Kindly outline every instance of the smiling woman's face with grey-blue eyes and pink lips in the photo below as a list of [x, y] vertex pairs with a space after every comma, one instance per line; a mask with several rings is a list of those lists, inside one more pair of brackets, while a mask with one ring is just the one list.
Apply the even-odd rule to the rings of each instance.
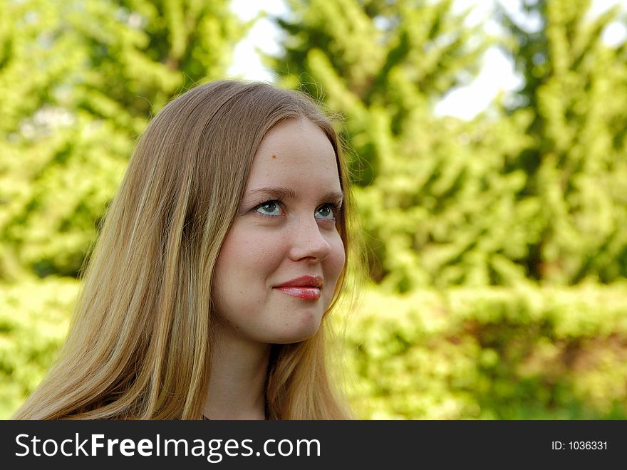
[[344, 265], [336, 227], [342, 190], [336, 155], [306, 119], [273, 127], [214, 273], [219, 328], [260, 343], [295, 343], [320, 326]]

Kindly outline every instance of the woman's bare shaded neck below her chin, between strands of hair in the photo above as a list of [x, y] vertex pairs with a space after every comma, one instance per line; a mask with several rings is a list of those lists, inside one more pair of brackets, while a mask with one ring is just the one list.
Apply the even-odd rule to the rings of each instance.
[[211, 377], [204, 416], [265, 419], [270, 345], [237, 338], [222, 328], [214, 330], [211, 342]]

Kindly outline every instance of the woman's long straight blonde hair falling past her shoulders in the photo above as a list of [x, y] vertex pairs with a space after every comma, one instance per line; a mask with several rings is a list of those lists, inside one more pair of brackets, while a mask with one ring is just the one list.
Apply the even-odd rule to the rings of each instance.
[[[14, 419], [202, 417], [217, 256], [261, 140], [290, 117], [314, 122], [336, 150], [347, 198], [338, 231], [348, 263], [346, 164], [316, 104], [266, 83], [192, 88], [140, 137], [86, 269], [68, 338]], [[272, 346], [270, 419], [350, 417], [327, 367], [328, 323], [309, 340]]]

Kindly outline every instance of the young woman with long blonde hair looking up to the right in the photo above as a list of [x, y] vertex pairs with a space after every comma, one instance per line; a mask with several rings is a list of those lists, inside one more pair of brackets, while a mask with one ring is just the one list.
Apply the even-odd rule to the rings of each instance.
[[306, 96], [218, 81], [140, 138], [56, 364], [15, 419], [347, 419], [341, 143]]

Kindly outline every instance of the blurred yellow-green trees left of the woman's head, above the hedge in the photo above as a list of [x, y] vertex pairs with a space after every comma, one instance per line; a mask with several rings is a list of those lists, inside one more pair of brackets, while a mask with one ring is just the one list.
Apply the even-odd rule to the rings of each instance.
[[147, 120], [221, 78], [247, 25], [228, 0], [0, 8], [0, 279], [77, 276]]

